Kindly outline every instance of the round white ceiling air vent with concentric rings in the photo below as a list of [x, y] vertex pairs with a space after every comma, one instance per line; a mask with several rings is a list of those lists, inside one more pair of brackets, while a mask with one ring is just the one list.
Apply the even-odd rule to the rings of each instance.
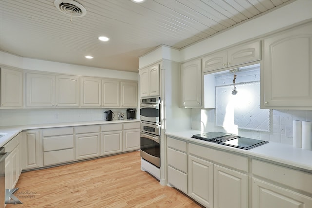
[[82, 17], [87, 13], [86, 8], [74, 0], [55, 0], [54, 5], [59, 11], [71, 17]]

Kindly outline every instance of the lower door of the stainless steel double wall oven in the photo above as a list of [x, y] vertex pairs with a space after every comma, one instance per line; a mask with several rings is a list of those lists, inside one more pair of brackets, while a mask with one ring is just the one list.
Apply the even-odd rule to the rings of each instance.
[[141, 132], [141, 157], [160, 168], [160, 136]]

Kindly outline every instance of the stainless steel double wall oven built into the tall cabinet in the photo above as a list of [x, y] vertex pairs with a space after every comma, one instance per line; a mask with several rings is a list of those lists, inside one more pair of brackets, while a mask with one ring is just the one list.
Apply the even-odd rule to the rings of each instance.
[[161, 99], [141, 99], [141, 157], [160, 168]]

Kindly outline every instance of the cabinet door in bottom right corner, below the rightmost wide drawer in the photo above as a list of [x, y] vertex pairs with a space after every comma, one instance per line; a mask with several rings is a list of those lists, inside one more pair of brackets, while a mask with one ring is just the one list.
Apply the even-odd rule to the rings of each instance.
[[258, 179], [252, 179], [252, 208], [311, 208], [312, 198]]

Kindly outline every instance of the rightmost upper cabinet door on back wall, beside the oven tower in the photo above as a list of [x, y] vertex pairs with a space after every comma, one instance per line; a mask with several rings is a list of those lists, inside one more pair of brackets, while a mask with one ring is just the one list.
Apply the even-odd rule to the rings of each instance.
[[137, 82], [121, 82], [121, 107], [137, 108]]

